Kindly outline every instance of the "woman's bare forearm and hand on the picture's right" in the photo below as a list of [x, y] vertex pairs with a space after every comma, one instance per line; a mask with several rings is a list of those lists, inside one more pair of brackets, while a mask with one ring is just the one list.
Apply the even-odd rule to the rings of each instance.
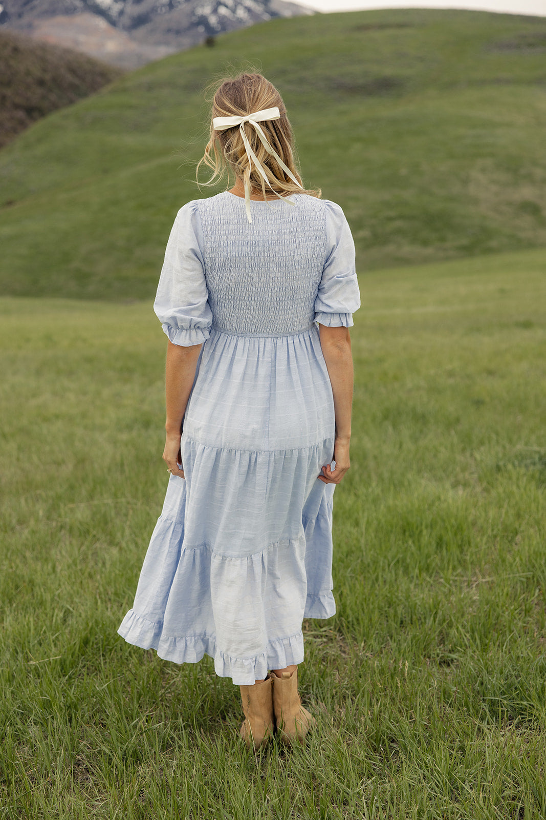
[[332, 385], [334, 413], [336, 417], [336, 439], [334, 441], [335, 470], [331, 464], [323, 466], [318, 476], [324, 484], [339, 484], [350, 467], [350, 418], [353, 406], [353, 356], [350, 349], [348, 327], [327, 327], [318, 325], [320, 346]]

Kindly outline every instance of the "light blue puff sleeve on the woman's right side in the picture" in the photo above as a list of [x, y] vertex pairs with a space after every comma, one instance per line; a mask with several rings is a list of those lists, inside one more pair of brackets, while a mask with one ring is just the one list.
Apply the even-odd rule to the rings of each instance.
[[345, 214], [325, 201], [327, 258], [314, 303], [314, 321], [327, 327], [351, 327], [360, 307], [359, 282], [354, 267], [354, 242]]

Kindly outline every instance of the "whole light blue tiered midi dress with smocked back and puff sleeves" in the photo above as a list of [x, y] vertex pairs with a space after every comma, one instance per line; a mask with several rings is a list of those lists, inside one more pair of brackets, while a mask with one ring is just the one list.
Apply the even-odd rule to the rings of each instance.
[[214, 658], [253, 684], [304, 659], [304, 617], [336, 612], [332, 387], [318, 336], [359, 307], [350, 229], [335, 203], [295, 194], [187, 203], [154, 309], [174, 344], [203, 344], [133, 608], [119, 632], [160, 658]]

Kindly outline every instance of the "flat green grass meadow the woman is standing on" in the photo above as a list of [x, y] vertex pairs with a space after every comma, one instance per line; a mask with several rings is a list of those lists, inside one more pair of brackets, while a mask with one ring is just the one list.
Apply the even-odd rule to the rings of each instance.
[[545, 266], [361, 277], [318, 731], [257, 755], [210, 659], [116, 635], [166, 484], [151, 305], [2, 298], [0, 818], [544, 817]]

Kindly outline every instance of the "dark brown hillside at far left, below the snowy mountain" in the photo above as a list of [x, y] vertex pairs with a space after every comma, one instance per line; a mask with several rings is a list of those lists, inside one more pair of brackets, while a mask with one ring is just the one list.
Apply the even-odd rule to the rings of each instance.
[[0, 147], [31, 123], [115, 80], [91, 57], [0, 30]]

